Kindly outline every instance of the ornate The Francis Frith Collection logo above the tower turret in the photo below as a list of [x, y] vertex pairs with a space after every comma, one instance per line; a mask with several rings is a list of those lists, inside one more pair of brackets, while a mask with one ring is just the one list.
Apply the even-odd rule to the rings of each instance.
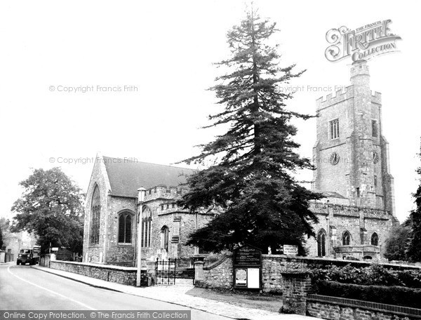
[[390, 23], [392, 20], [383, 20], [354, 30], [345, 26], [330, 29], [326, 32], [326, 40], [330, 44], [325, 51], [326, 59], [332, 62], [348, 57], [352, 61], [368, 60], [376, 55], [398, 51], [396, 41], [401, 37], [392, 34]]

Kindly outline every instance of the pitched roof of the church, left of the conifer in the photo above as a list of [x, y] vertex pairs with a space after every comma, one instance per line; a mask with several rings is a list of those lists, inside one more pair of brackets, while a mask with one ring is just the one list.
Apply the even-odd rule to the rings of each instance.
[[138, 189], [155, 187], [156, 185], [178, 186], [186, 182], [186, 175], [194, 170], [162, 164], [131, 161], [130, 159], [103, 156], [111, 194], [113, 196], [138, 196]]

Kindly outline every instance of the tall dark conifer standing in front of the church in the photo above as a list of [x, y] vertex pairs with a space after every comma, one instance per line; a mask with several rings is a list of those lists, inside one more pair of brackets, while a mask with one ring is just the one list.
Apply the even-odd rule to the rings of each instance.
[[282, 244], [295, 244], [304, 254], [305, 235], [314, 235], [311, 222], [317, 218], [308, 206], [319, 195], [293, 178], [297, 169], [312, 165], [295, 152], [297, 129], [290, 124], [294, 117], [310, 116], [286, 109], [291, 95], [279, 84], [302, 72], [293, 74], [295, 65], [279, 67], [278, 46], [267, 44], [277, 31], [274, 23], [251, 11], [227, 34], [232, 55], [217, 64], [227, 74], [210, 88], [225, 109], [209, 116], [213, 123], [206, 128], [222, 125], [228, 130], [185, 160], [205, 164], [211, 159], [213, 165], [187, 178], [189, 192], [180, 201], [192, 211], [215, 206], [222, 213], [192, 233], [187, 244], [215, 252], [242, 244], [263, 252], [270, 246], [273, 252]]

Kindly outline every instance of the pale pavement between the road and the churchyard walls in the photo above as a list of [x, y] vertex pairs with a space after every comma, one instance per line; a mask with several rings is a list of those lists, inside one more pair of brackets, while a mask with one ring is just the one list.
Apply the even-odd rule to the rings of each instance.
[[143, 298], [159, 300], [163, 302], [170, 302], [175, 305], [198, 309], [201, 311], [209, 312], [211, 314], [218, 314], [220, 316], [227, 316], [232, 319], [250, 319], [250, 320], [316, 320], [312, 316], [301, 316], [298, 314], [279, 314], [276, 312], [269, 312], [262, 309], [251, 309], [246, 307], [239, 307], [226, 302], [219, 302], [215, 300], [194, 297], [187, 295], [187, 291], [194, 288], [192, 281], [185, 281], [177, 279], [176, 284], [173, 286], [149, 286], [149, 287], [135, 287], [125, 286], [123, 284], [115, 284], [100, 279], [83, 276], [81, 274], [74, 274], [48, 267], [40, 267], [38, 265], [32, 266], [34, 269], [39, 269], [43, 272], [49, 272], [58, 276], [79, 281], [83, 284], [88, 284], [97, 288], [104, 288], [130, 295], [138, 295]]

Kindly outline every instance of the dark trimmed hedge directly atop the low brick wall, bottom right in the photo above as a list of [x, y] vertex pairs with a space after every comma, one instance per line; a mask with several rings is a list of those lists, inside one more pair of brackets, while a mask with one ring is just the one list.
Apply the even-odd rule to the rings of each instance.
[[363, 286], [319, 280], [314, 284], [314, 290], [319, 295], [421, 308], [421, 289], [401, 286]]

